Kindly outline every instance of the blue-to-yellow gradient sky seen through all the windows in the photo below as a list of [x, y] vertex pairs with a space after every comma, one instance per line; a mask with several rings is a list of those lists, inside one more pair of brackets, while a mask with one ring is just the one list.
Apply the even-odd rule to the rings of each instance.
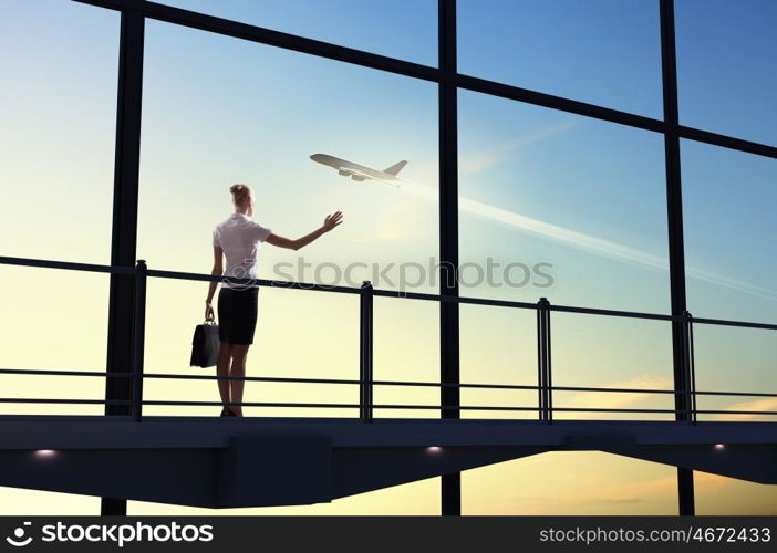
[[[169, 3], [436, 63], [431, 0]], [[777, 46], [775, 4], [752, 0], [733, 10], [731, 2], [677, 0], [676, 6], [681, 123], [774, 145], [777, 114], [769, 106], [777, 72], [769, 52]], [[583, 9], [577, 1], [459, 0], [458, 7], [462, 73], [661, 116], [657, 1], [599, 0]], [[112, 11], [66, 0], [0, 0], [3, 255], [110, 261], [117, 48], [118, 15]], [[466, 91], [459, 92], [458, 104], [464, 295], [529, 302], [547, 296], [557, 304], [669, 312], [661, 135]], [[376, 168], [402, 159], [408, 165], [395, 189], [340, 177], [311, 161], [314, 153]], [[418, 278], [418, 268], [437, 254], [437, 155], [432, 83], [167, 23], [146, 24], [137, 253], [151, 268], [208, 272], [210, 231], [231, 211], [228, 188], [246, 182], [257, 196], [255, 219], [283, 236], [302, 236], [338, 209], [345, 213], [341, 227], [305, 250], [265, 247], [260, 276], [328, 283], [351, 267], [359, 283], [375, 279], [371, 269], [353, 263], [394, 263], [376, 288], [398, 289], [404, 270], [407, 289], [436, 292], [437, 283]], [[681, 143], [681, 155], [688, 309], [696, 316], [775, 322], [775, 160], [690, 140]], [[300, 259], [309, 263], [301, 272]], [[480, 278], [478, 268], [489, 262], [498, 263], [493, 279]], [[8, 294], [3, 302], [3, 366], [104, 371], [105, 275], [2, 271], [7, 290], [34, 291]], [[550, 275], [550, 285], [540, 272]], [[205, 294], [201, 283], [149, 282], [147, 372], [194, 371], [187, 366], [188, 347]], [[249, 373], [355, 378], [356, 306], [352, 296], [263, 289]], [[533, 313], [464, 305], [460, 324], [462, 382], [536, 384]], [[555, 313], [552, 324], [555, 384], [671, 387], [666, 323]], [[45, 347], [40, 347], [42, 335]], [[774, 392], [776, 336], [697, 326], [697, 388]], [[434, 380], [438, 356], [436, 305], [376, 300], [376, 378]], [[100, 398], [103, 392], [97, 377], [4, 376], [3, 383], [4, 395], [21, 397]], [[215, 388], [151, 380], [145, 393], [148, 399], [215, 400]], [[323, 396], [353, 403], [358, 390], [280, 384], [246, 389], [251, 401]], [[536, 401], [533, 393], [521, 392], [464, 390], [462, 399], [469, 405]], [[437, 398], [431, 389], [386, 387], [375, 390], [375, 400], [428, 405]], [[558, 393], [555, 405], [671, 407], [665, 398], [646, 394], [594, 393]], [[698, 407], [774, 410], [777, 401], [700, 398]], [[2, 409], [100, 413], [92, 406]], [[213, 410], [183, 409], [191, 415]], [[146, 413], [183, 414], [178, 407]], [[292, 409], [246, 413], [300, 415]], [[323, 413], [304, 413], [317, 414]], [[353, 416], [348, 409], [327, 414]], [[465, 472], [463, 512], [672, 514], [673, 474], [672, 467], [604, 453], [546, 453]], [[703, 473], [696, 473], [696, 483], [700, 514], [777, 512], [774, 487]], [[96, 498], [8, 488], [0, 489], [0, 504], [12, 505], [0, 509], [13, 508], [13, 513], [32, 510], [39, 498], [52, 513], [93, 513], [99, 504]], [[438, 502], [438, 480], [429, 479], [332, 504], [229, 513], [434, 514]], [[128, 512], [199, 510], [133, 501]]]

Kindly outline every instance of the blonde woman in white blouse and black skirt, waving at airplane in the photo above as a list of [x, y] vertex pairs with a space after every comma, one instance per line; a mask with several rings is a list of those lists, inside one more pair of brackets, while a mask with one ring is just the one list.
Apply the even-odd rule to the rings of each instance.
[[[235, 212], [214, 229], [214, 268], [211, 274], [225, 274], [222, 258], [227, 259], [226, 276], [218, 293], [219, 355], [216, 374], [219, 376], [245, 376], [248, 348], [253, 343], [257, 326], [258, 284], [230, 282], [229, 278], [256, 279], [257, 258], [263, 242], [278, 248], [299, 250], [329, 232], [342, 222], [340, 211], [327, 216], [321, 227], [297, 240], [272, 232], [251, 219], [253, 191], [246, 185], [232, 185]], [[214, 317], [213, 299], [218, 282], [210, 282], [205, 300], [205, 317]], [[224, 403], [222, 417], [241, 417], [242, 407], [228, 406], [242, 401], [242, 379], [219, 379], [218, 392]]]

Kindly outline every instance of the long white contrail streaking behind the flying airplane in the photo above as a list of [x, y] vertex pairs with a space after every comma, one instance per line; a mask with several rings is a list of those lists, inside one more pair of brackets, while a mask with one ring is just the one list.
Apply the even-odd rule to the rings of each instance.
[[[437, 201], [438, 199], [437, 190], [407, 180], [403, 181], [401, 190], [431, 201]], [[586, 234], [583, 232], [560, 227], [558, 225], [540, 221], [539, 219], [522, 216], [514, 211], [508, 211], [506, 209], [472, 200], [469, 198], [459, 197], [458, 207], [460, 211], [466, 211], [470, 215], [481, 217], [490, 221], [500, 222], [508, 227], [520, 229], [557, 242], [567, 243], [600, 255], [669, 271], [669, 262], [666, 259], [613, 242], [611, 240], [597, 238], [591, 234]], [[738, 292], [745, 292], [777, 301], [777, 292], [764, 286], [722, 276], [711, 271], [705, 271], [693, 267], [688, 267], [686, 269], [686, 274], [691, 278], [709, 282], [712, 284], [718, 284]]]

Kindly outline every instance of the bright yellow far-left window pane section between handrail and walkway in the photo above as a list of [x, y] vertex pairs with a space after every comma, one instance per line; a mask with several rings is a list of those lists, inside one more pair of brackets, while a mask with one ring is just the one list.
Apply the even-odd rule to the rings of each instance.
[[[12, 286], [2, 300], [0, 316], [2, 368], [105, 373], [106, 274], [0, 265], [0, 279]], [[105, 378], [2, 375], [0, 397], [102, 400]], [[0, 414], [102, 415], [104, 411], [100, 404], [0, 403]]]

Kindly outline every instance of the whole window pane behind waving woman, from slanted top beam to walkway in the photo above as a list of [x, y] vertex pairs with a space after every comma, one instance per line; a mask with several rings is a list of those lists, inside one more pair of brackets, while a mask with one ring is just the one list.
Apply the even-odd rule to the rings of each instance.
[[[302, 237], [327, 213], [344, 213], [340, 227], [299, 251], [265, 243], [260, 278], [437, 290], [426, 278], [438, 248], [435, 85], [154, 21], [146, 30], [144, 79], [138, 257], [148, 267], [209, 272], [213, 228], [235, 211], [229, 187], [245, 182], [255, 191], [253, 220], [279, 236]], [[314, 163], [314, 154], [379, 170], [408, 163], [397, 187], [339, 175]], [[419, 189], [423, 194], [411, 194]], [[426, 272], [419, 275], [418, 268]], [[190, 371], [186, 348], [207, 288], [152, 279], [147, 309], [156, 331], [149, 327], [148, 371]], [[376, 327], [401, 327], [408, 311], [379, 304]], [[353, 295], [262, 289], [247, 374], [358, 378], [358, 317]], [[434, 341], [427, 346], [436, 347], [437, 334], [428, 337]], [[405, 353], [417, 349], [428, 357], [416, 345]], [[380, 371], [386, 366], [384, 351], [375, 354]], [[424, 369], [437, 374], [432, 365]], [[148, 393], [189, 394], [159, 382]], [[190, 397], [218, 398], [213, 383], [189, 386]], [[354, 404], [358, 397], [354, 386], [267, 383], [247, 384], [245, 395], [247, 401], [282, 403]], [[356, 416], [353, 409], [246, 413]]]

